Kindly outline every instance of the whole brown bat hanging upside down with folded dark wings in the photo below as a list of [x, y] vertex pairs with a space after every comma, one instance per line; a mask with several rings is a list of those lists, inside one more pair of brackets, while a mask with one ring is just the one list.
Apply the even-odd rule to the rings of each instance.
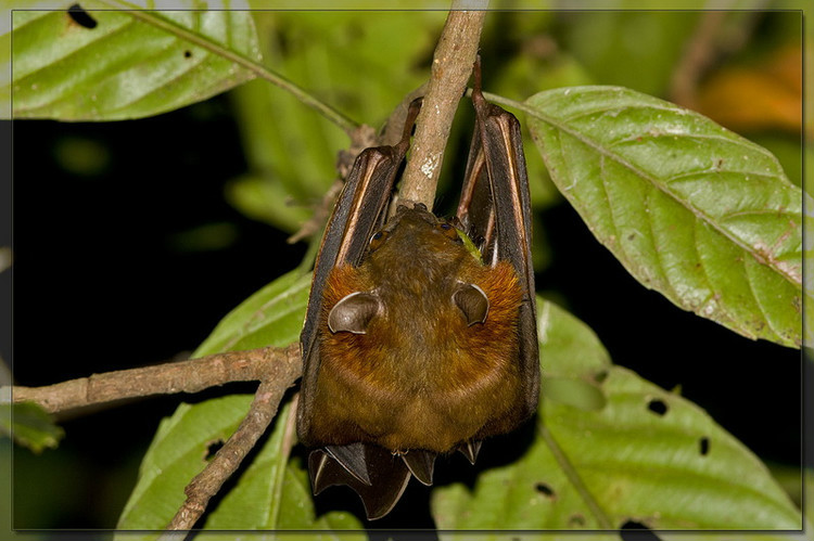
[[479, 65], [472, 103], [455, 220], [421, 204], [386, 219], [419, 100], [398, 144], [357, 157], [317, 258], [297, 433], [313, 449], [314, 493], [347, 485], [368, 519], [386, 515], [411, 476], [431, 485], [436, 455], [458, 450], [474, 463], [483, 439], [513, 430], [537, 405], [520, 125], [484, 100]]

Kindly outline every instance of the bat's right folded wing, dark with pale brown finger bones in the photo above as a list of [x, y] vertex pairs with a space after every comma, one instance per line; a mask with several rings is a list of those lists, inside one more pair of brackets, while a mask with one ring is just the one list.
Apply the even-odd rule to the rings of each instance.
[[[475, 134], [472, 138], [458, 220], [482, 247], [486, 265], [509, 261], [520, 279], [520, 371], [525, 383], [519, 404], [531, 415], [539, 397], [534, 269], [529, 176], [523, 156], [520, 123], [511, 113], [486, 102], [481, 93], [480, 66], [475, 67]], [[469, 456], [467, 450], [461, 451]]]

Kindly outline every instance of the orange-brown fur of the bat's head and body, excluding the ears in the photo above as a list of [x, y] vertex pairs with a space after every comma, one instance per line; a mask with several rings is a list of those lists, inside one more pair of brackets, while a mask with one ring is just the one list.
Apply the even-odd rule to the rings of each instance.
[[[311, 425], [317, 445], [447, 452], [521, 421], [518, 276], [507, 262], [483, 266], [433, 220], [406, 215], [358, 268], [336, 267], [328, 276]], [[453, 301], [459, 282], [486, 293], [484, 323], [467, 325]], [[331, 333], [328, 313], [354, 292], [374, 292], [383, 311], [366, 334]]]

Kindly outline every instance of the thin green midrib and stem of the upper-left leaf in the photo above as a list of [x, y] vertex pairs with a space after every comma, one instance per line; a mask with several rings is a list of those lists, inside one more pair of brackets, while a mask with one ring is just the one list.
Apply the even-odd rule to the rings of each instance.
[[[119, 3], [125, 3], [125, 2], [112, 2], [110, 0], [98, 0], [98, 1], [107, 5], [114, 7], [114, 8]], [[332, 106], [320, 101], [316, 96], [309, 94], [307, 91], [298, 87], [293, 81], [287, 79], [285, 77], [283, 77], [282, 75], [278, 73], [272, 72], [271, 69], [267, 68], [263, 64], [259, 64], [258, 62], [255, 62], [252, 59], [249, 59], [242, 55], [239, 52], [232, 51], [221, 46], [220, 43], [217, 43], [216, 41], [213, 41], [199, 34], [195, 34], [194, 31], [189, 30], [182, 26], [179, 26], [170, 21], [167, 21], [164, 17], [157, 16], [150, 11], [140, 10], [138, 9], [138, 7], [133, 7], [132, 9], [127, 10], [127, 13], [145, 24], [152, 25], [156, 28], [161, 28], [162, 30], [165, 30], [169, 34], [174, 34], [175, 36], [178, 36], [179, 38], [185, 39], [189, 41], [190, 43], [194, 43], [198, 47], [206, 49], [213, 54], [222, 56], [224, 59], [227, 59], [240, 65], [241, 67], [252, 72], [257, 77], [265, 79], [271, 82], [272, 85], [285, 90], [287, 92], [291, 93], [294, 98], [300, 100], [300, 102], [302, 102], [304, 105], [307, 105], [310, 108], [315, 110], [317, 113], [321, 114], [328, 120], [330, 120], [331, 123], [335, 124], [336, 126], [345, 130], [345, 132], [347, 132], [348, 134], [358, 127], [358, 123], [352, 120], [351, 118], [345, 116], [343, 113], [340, 113]]]

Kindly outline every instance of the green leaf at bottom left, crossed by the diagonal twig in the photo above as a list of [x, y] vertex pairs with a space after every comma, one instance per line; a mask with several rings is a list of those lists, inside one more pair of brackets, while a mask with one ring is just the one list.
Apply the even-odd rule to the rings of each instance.
[[[162, 422], [141, 464], [139, 484], [122, 514], [117, 529], [161, 530], [183, 503], [183, 488], [206, 465], [207, 449], [226, 441], [243, 420], [251, 396], [229, 396], [195, 405], [182, 404]], [[287, 427], [291, 430], [290, 404], [281, 408], [270, 437], [251, 465], [207, 517], [205, 529], [332, 530], [360, 528], [347, 513], [315, 517], [307, 473], [296, 461], [288, 461]], [[290, 437], [290, 436], [289, 436]], [[158, 533], [123, 540], [155, 539]], [[119, 538], [117, 536], [114, 539]], [[233, 534], [207, 533], [202, 539], [233, 539]], [[292, 534], [293, 538], [294, 534]], [[278, 533], [278, 539], [288, 539]], [[327, 534], [322, 539], [346, 539]], [[348, 536], [347, 539], [354, 539]], [[359, 539], [356, 536], [355, 539]]]

